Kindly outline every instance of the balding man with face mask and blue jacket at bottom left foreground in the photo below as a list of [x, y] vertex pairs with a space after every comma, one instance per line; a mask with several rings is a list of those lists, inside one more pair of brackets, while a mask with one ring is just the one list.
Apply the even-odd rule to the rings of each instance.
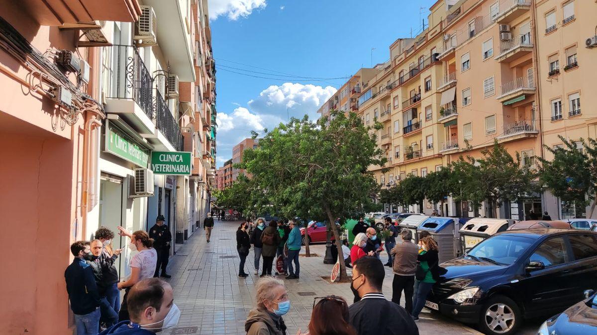
[[131, 320], [121, 321], [100, 335], [153, 335], [178, 324], [180, 310], [174, 303], [170, 284], [159, 278], [139, 281], [128, 292]]

